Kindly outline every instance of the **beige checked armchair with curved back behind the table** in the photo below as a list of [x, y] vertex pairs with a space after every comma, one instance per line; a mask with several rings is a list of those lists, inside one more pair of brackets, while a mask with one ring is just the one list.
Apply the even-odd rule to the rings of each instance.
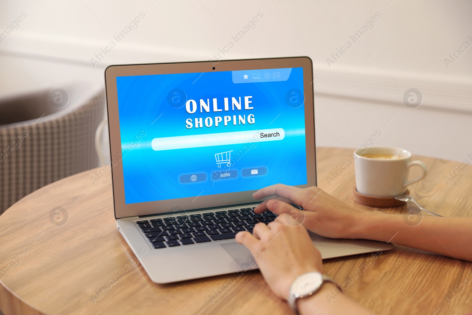
[[98, 166], [104, 89], [62, 89], [0, 98], [0, 214], [38, 188]]

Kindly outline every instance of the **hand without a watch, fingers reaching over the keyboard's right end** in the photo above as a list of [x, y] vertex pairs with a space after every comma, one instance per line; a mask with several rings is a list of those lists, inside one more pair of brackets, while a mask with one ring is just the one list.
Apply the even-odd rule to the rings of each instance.
[[[318, 187], [296, 188], [283, 184], [262, 188], [253, 194], [254, 199], [272, 196], [258, 205], [254, 211], [270, 210], [277, 215], [283, 213], [291, 225], [300, 225], [324, 237], [358, 238], [358, 222], [371, 212], [354, 208]], [[304, 210], [292, 206], [296, 204]]]

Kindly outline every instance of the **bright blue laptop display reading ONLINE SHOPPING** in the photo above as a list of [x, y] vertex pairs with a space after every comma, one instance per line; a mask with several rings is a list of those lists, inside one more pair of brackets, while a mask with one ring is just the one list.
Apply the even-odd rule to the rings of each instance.
[[307, 183], [303, 68], [116, 79], [126, 204]]

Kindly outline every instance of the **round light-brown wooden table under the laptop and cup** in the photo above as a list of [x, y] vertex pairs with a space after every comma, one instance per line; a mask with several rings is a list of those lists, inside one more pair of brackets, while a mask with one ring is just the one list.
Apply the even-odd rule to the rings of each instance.
[[[318, 148], [318, 185], [348, 204], [379, 210], [354, 202], [354, 166], [344, 166], [352, 162], [353, 151]], [[429, 169], [426, 179], [410, 187], [418, 202], [446, 216], [471, 215], [472, 166], [448, 186], [445, 177], [462, 163], [416, 158]], [[333, 177], [337, 167], [345, 170]], [[169, 285], [153, 283], [141, 265], [131, 264], [135, 256], [115, 225], [110, 173], [102, 172], [94, 185], [91, 177], [97, 178], [97, 170], [42, 187], [0, 216], [0, 309], [5, 315], [291, 314], [258, 271], [239, 279], [228, 274]], [[405, 213], [407, 206], [381, 211]], [[359, 272], [369, 257], [328, 259], [324, 268], [339, 283], [350, 278], [353, 283], [345, 294], [376, 314], [471, 311], [471, 285], [450, 304], [446, 298], [465, 278], [472, 279], [471, 263], [396, 246]], [[115, 272], [123, 267], [129, 267], [124, 276], [111, 289], [102, 289], [112, 277], [117, 279]], [[214, 290], [230, 278], [234, 283], [215, 300]], [[103, 293], [98, 295], [97, 290]]]

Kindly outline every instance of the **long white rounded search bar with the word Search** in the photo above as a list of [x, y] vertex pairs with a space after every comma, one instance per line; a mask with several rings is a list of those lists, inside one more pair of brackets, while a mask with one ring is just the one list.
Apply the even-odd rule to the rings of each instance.
[[198, 148], [214, 145], [236, 145], [249, 142], [277, 141], [285, 137], [283, 128], [222, 132], [205, 135], [172, 136], [152, 139], [154, 151]]

